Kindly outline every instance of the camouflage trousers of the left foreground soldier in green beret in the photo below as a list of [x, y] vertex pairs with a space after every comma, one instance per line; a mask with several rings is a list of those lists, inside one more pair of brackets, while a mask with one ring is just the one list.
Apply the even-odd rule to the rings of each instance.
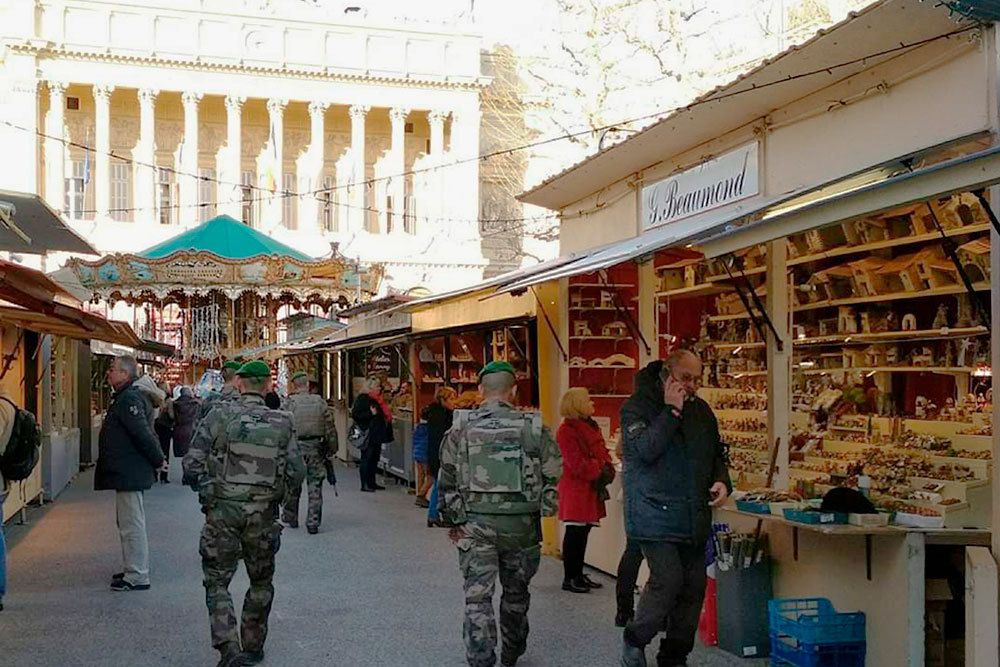
[[[250, 652], [264, 648], [267, 617], [274, 599], [274, 556], [280, 546], [281, 524], [272, 505], [215, 500], [205, 510], [198, 551], [205, 576], [212, 646], [219, 651], [240, 646]], [[241, 559], [250, 578], [250, 590], [243, 600], [243, 618], [237, 632], [229, 582]]]

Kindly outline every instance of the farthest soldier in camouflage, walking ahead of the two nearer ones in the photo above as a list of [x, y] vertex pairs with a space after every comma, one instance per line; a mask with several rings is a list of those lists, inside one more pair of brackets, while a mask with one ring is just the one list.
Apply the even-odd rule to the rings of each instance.
[[[309, 509], [306, 511], [306, 530], [315, 535], [323, 520], [323, 481], [327, 466], [333, 463], [337, 451], [337, 429], [333, 413], [326, 401], [309, 392], [309, 378], [304, 372], [292, 376], [291, 395], [283, 408], [292, 413], [295, 434], [306, 462], [306, 484], [309, 487]], [[299, 527], [299, 498], [302, 485], [286, 489], [281, 520], [290, 528]]]

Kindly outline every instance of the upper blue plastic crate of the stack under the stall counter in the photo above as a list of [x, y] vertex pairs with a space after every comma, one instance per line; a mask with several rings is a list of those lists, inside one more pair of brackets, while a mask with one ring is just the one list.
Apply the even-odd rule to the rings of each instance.
[[864, 643], [865, 615], [837, 613], [826, 598], [775, 598], [767, 603], [770, 633], [803, 644]]

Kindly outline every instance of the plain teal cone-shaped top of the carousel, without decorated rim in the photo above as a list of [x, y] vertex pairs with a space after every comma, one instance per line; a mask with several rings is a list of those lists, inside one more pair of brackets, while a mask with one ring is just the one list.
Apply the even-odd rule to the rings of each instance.
[[222, 259], [249, 259], [259, 255], [291, 257], [301, 262], [315, 261], [291, 246], [244, 225], [228, 215], [220, 215], [183, 234], [158, 243], [139, 253], [140, 257], [158, 259], [175, 252], [210, 252]]

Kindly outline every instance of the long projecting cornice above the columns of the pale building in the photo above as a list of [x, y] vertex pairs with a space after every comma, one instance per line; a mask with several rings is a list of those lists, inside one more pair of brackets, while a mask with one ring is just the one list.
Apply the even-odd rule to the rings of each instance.
[[206, 59], [182, 60], [174, 58], [161, 58], [155, 53], [148, 55], [124, 55], [115, 53], [99, 53], [95, 51], [74, 51], [53, 47], [51, 44], [20, 43], [8, 44], [7, 48], [13, 53], [33, 55], [36, 57], [49, 58], [52, 60], [75, 60], [104, 63], [120, 63], [130, 65], [148, 65], [151, 67], [170, 67], [183, 70], [200, 70], [207, 72], [224, 72], [253, 74], [265, 76], [291, 76], [300, 79], [312, 79], [317, 81], [344, 81], [350, 83], [376, 83], [380, 85], [390, 85], [397, 87], [420, 86], [425, 88], [436, 88], [446, 90], [469, 90], [481, 91], [488, 87], [492, 78], [488, 76], [479, 77], [429, 77], [429, 76], [393, 76], [381, 75], [370, 70], [364, 72], [349, 72], [326, 67], [323, 69], [297, 69], [287, 66], [267, 66], [258, 64], [248, 64], [245, 62], [212, 62]]

